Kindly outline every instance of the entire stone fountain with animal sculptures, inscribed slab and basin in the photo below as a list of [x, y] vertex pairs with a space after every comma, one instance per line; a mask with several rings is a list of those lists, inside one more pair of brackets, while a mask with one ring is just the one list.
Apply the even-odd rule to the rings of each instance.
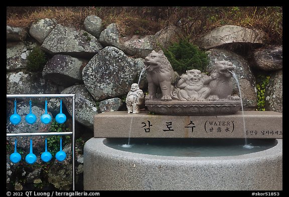
[[149, 111], [94, 116], [85, 190], [282, 190], [282, 114], [242, 111], [230, 62], [210, 76], [176, 75], [162, 51], [144, 63], [149, 95], [132, 87], [126, 103]]

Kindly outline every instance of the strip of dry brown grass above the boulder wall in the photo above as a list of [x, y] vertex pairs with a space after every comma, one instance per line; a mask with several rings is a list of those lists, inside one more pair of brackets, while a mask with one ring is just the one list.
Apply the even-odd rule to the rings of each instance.
[[7, 7], [7, 25], [29, 27], [43, 18], [82, 29], [85, 18], [96, 15], [104, 27], [115, 23], [121, 36], [155, 34], [179, 25], [192, 42], [222, 25], [256, 28], [266, 43], [282, 43], [282, 7]]

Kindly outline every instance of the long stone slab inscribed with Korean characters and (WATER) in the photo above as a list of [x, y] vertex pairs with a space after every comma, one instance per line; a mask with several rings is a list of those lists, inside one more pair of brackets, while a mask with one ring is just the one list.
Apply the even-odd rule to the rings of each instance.
[[244, 116], [241, 111], [204, 116], [152, 115], [148, 111], [94, 115], [94, 137], [280, 139], [282, 134], [282, 113], [273, 111], [244, 111]]

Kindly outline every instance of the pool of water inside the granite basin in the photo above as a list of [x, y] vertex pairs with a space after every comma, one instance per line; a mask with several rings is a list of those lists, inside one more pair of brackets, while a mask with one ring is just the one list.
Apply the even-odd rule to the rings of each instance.
[[213, 157], [235, 156], [258, 152], [276, 145], [275, 139], [247, 139], [249, 148], [244, 146], [244, 139], [218, 138], [107, 138], [108, 147], [142, 154], [163, 156]]

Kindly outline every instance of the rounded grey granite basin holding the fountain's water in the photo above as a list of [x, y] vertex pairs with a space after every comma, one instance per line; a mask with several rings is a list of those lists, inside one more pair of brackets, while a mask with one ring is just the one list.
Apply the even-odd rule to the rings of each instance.
[[[85, 190], [282, 190], [282, 139], [235, 156], [161, 156], [84, 145]], [[271, 139], [270, 139], [271, 140]]]

